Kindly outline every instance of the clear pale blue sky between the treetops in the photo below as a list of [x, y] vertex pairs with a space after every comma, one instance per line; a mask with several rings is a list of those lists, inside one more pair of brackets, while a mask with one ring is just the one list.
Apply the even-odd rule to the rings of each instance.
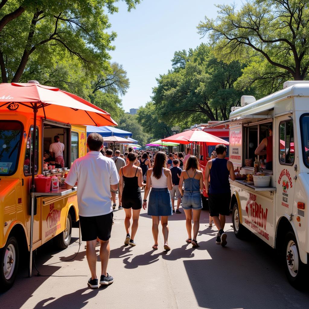
[[111, 29], [117, 32], [116, 50], [110, 54], [130, 79], [129, 91], [122, 97], [126, 112], [150, 100], [156, 78], [171, 69], [175, 51], [207, 42], [197, 34], [196, 27], [205, 15], [217, 16], [214, 5], [232, 2], [241, 1], [143, 0], [131, 12], [119, 3], [119, 12], [110, 16]]

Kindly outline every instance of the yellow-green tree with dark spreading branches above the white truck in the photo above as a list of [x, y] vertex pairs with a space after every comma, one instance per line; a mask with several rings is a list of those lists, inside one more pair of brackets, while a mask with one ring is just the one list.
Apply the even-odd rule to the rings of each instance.
[[235, 4], [218, 5], [218, 17], [205, 17], [197, 28], [202, 36], [209, 33], [219, 59], [239, 60], [251, 52], [279, 75], [303, 80], [309, 67], [308, 5], [309, 0], [248, 0], [239, 11]]

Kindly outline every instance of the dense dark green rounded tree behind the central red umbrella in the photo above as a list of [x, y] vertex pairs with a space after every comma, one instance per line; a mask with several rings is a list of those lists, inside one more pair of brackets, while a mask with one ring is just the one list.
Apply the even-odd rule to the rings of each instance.
[[228, 64], [218, 61], [212, 49], [201, 44], [181, 66], [157, 79], [152, 99], [159, 119], [170, 126], [190, 116], [195, 123], [226, 120], [231, 105], [240, 103], [241, 91], [234, 89], [243, 67], [239, 61]]

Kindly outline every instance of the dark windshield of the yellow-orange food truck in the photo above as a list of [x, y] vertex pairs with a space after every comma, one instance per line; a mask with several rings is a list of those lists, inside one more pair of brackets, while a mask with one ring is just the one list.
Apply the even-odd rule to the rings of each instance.
[[23, 126], [18, 121], [0, 121], [0, 175], [10, 176], [18, 166]]

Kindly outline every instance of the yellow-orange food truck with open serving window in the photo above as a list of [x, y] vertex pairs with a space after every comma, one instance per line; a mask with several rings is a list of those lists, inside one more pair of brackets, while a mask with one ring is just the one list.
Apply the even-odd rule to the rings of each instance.
[[[0, 258], [3, 263], [0, 285], [5, 290], [14, 282], [19, 257], [29, 250], [34, 119], [28, 113], [9, 110], [1, 110], [0, 119]], [[49, 153], [56, 135], [65, 145], [65, 168], [57, 168], [52, 160], [43, 164], [44, 153]], [[44, 173], [63, 178], [71, 163], [86, 154], [86, 127], [37, 117], [35, 143], [36, 176]], [[49, 165], [55, 165], [54, 169], [49, 169]], [[58, 190], [34, 194], [33, 250], [52, 238], [58, 248], [66, 248], [71, 239], [72, 221], [78, 221], [76, 190], [60, 185]]]

